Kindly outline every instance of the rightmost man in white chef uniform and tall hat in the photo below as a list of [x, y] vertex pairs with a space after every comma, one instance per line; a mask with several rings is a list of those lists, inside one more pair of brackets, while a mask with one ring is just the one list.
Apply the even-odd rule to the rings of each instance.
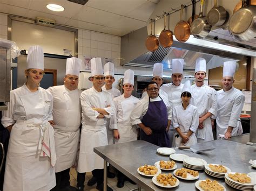
[[238, 120], [245, 96], [233, 87], [236, 66], [237, 62], [224, 62], [223, 89], [217, 91], [217, 137], [219, 134], [225, 135], [225, 138], [242, 134], [242, 125]]

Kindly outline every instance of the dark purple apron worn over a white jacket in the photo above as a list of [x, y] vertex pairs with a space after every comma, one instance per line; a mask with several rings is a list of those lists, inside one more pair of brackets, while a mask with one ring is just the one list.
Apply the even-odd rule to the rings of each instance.
[[140, 140], [145, 140], [160, 147], [171, 146], [169, 134], [166, 132], [168, 124], [167, 108], [162, 98], [160, 101], [151, 102], [149, 97], [149, 108], [142, 117], [142, 123], [152, 130], [152, 134], [146, 135], [143, 130], [140, 130]]

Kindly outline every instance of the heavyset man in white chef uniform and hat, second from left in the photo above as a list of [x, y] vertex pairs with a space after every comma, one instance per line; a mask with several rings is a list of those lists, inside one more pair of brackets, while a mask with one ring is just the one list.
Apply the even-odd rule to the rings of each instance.
[[48, 89], [53, 96], [53, 121], [50, 123], [55, 130], [57, 157], [55, 165], [57, 185], [52, 190], [75, 189], [70, 186], [69, 171], [76, 162], [80, 138], [79, 126], [82, 117], [80, 94], [82, 90], [77, 89], [77, 86], [81, 66], [81, 59], [75, 57], [66, 59], [64, 85]]

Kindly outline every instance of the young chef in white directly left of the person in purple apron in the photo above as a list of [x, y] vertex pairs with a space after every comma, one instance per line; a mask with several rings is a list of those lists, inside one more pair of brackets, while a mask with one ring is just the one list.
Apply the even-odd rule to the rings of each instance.
[[[131, 112], [135, 107], [136, 103], [139, 101], [137, 97], [132, 96], [132, 91], [134, 89], [134, 72], [128, 69], [124, 73], [124, 94], [114, 98], [114, 106], [116, 108], [117, 126], [119, 136], [115, 137], [115, 144], [131, 142], [132, 140], [137, 140], [137, 127], [133, 126], [131, 123]], [[117, 131], [117, 130], [114, 130]], [[124, 181], [129, 180], [126, 176], [118, 172], [118, 182], [117, 187], [124, 187]], [[133, 182], [132, 182], [133, 183]]]

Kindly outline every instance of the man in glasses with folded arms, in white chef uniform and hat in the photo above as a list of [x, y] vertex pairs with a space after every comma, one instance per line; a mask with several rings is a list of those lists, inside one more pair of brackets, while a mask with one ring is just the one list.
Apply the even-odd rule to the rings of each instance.
[[[93, 148], [107, 145], [106, 118], [114, 115], [115, 109], [109, 93], [102, 90], [104, 75], [102, 59], [91, 59], [93, 86], [81, 94], [83, 110], [82, 131], [78, 159], [77, 187], [84, 188], [85, 173], [91, 172], [97, 178], [97, 189], [103, 190], [103, 158]], [[112, 190], [108, 187], [107, 190]]]

